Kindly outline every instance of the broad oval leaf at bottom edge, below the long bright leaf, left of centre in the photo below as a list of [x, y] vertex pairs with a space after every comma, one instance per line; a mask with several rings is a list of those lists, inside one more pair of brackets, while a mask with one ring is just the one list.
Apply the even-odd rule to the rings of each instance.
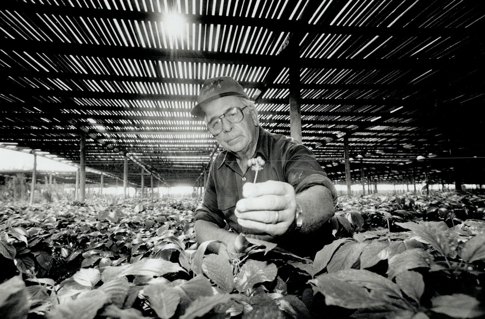
[[150, 307], [162, 319], [169, 319], [177, 310], [180, 303], [180, 295], [177, 290], [161, 283], [150, 284], [143, 289], [150, 301]]

